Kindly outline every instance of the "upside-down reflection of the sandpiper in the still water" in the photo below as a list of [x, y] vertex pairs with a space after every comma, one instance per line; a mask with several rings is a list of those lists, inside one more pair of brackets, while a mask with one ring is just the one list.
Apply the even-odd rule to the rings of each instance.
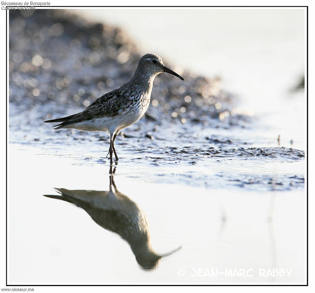
[[109, 191], [68, 190], [54, 188], [60, 195], [44, 195], [64, 200], [84, 209], [102, 228], [120, 235], [126, 240], [141, 268], [149, 270], [157, 267], [160, 259], [178, 250], [157, 254], [151, 247], [151, 239], [146, 214], [129, 197], [119, 192], [114, 173], [110, 167]]

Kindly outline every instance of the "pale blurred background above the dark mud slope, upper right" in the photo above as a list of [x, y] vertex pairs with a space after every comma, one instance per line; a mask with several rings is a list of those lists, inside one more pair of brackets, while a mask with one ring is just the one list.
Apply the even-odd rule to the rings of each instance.
[[141, 54], [156, 52], [198, 75], [221, 77], [222, 88], [237, 95], [244, 109], [304, 141], [304, 96], [292, 100], [292, 90], [304, 85], [303, 8], [76, 12], [123, 28]]

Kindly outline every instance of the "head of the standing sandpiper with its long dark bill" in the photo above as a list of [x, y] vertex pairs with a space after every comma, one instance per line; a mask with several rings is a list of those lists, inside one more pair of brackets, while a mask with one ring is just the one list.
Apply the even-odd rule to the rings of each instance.
[[177, 74], [173, 70], [166, 67], [163, 63], [162, 58], [156, 54], [146, 54], [142, 56], [138, 62], [137, 69], [139, 69], [139, 71], [141, 72], [149, 72], [155, 76], [161, 72], [167, 72], [167, 73], [175, 75], [181, 80], [185, 80], [179, 74]]

